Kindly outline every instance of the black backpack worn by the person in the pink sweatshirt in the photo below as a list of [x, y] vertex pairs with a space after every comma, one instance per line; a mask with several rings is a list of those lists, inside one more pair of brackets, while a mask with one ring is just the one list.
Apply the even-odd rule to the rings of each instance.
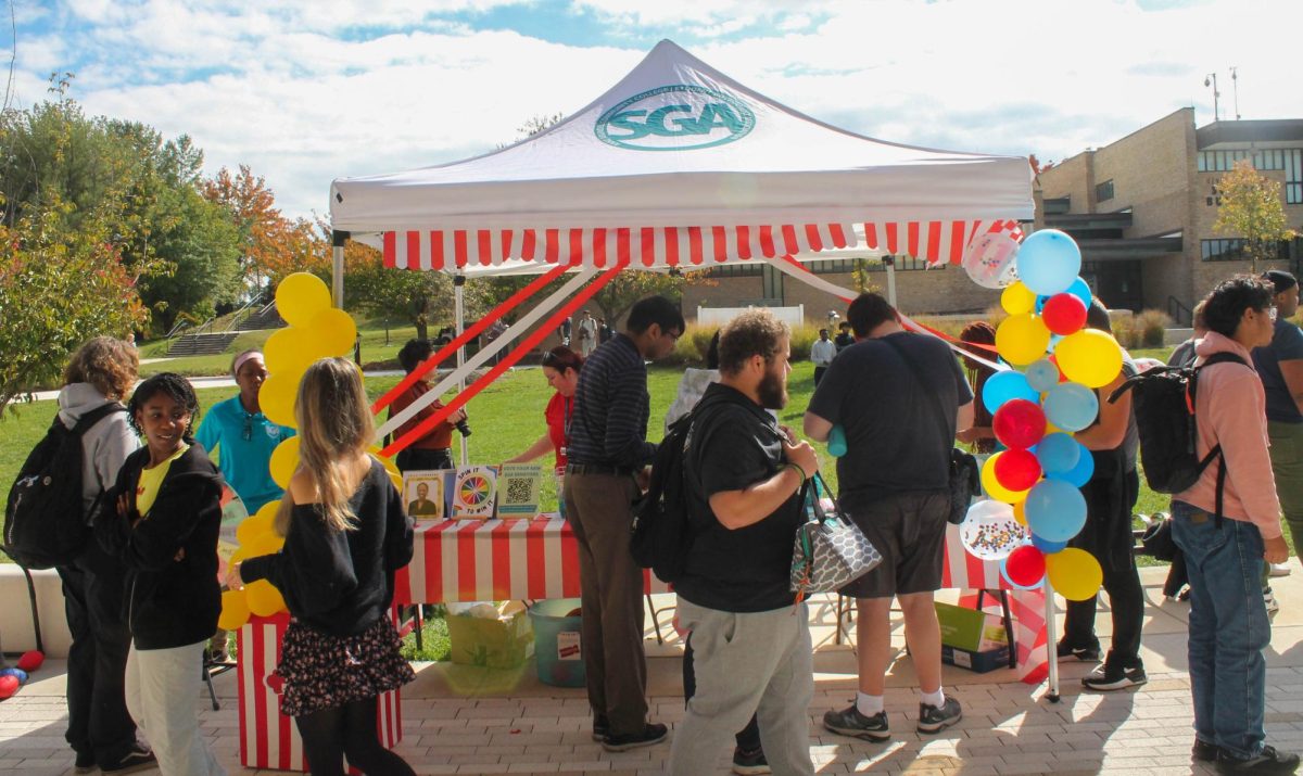
[[[1140, 432], [1140, 464], [1145, 482], [1160, 493], [1179, 493], [1196, 482], [1213, 461], [1221, 457], [1221, 445], [1214, 445], [1203, 458], [1195, 444], [1199, 440], [1195, 422], [1195, 396], [1199, 371], [1214, 363], [1239, 363], [1244, 359], [1233, 353], [1214, 353], [1197, 367], [1160, 366], [1127, 379], [1109, 397], [1117, 401], [1132, 391], [1132, 410]], [[1247, 365], [1246, 365], [1247, 366]], [[1222, 490], [1226, 466], [1217, 473], [1217, 520], [1221, 520]]]

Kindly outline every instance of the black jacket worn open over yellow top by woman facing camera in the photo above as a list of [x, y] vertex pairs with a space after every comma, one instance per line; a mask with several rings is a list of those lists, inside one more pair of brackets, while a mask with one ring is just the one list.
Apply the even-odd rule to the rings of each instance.
[[128, 569], [125, 615], [136, 648], [167, 650], [208, 639], [218, 629], [223, 480], [203, 445], [190, 443], [168, 467], [149, 516], [132, 527], [129, 518], [117, 514], [117, 497], [128, 495], [134, 517], [136, 488], [149, 462], [149, 448], [128, 456], [109, 497], [102, 501], [95, 535]]

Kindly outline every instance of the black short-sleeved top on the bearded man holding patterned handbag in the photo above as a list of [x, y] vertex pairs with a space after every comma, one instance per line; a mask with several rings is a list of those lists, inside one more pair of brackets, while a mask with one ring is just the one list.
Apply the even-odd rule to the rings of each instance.
[[[706, 404], [709, 402], [709, 405]], [[687, 570], [674, 589], [692, 603], [722, 612], [767, 612], [792, 605], [788, 590], [792, 539], [800, 525], [796, 495], [765, 520], [728, 530], [710, 510], [710, 496], [740, 491], [773, 477], [783, 464], [783, 436], [774, 417], [735, 388], [711, 383], [688, 437], [688, 516], [696, 538]]]

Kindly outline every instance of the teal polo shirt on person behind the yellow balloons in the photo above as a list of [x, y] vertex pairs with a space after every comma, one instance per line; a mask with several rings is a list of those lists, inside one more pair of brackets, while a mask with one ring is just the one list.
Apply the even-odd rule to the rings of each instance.
[[276, 445], [293, 435], [293, 428], [272, 423], [262, 413], [246, 413], [236, 395], [212, 405], [194, 437], [208, 454], [216, 454], [222, 477], [253, 514], [284, 495], [268, 465]]

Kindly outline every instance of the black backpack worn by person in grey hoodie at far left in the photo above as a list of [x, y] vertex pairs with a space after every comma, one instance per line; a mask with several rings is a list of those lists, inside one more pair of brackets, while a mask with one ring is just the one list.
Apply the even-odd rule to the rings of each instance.
[[95, 408], [72, 428], [59, 415], [44, 439], [27, 456], [9, 488], [0, 548], [29, 569], [52, 569], [77, 559], [91, 529], [82, 503], [82, 435], [111, 413], [125, 413], [117, 402]]

